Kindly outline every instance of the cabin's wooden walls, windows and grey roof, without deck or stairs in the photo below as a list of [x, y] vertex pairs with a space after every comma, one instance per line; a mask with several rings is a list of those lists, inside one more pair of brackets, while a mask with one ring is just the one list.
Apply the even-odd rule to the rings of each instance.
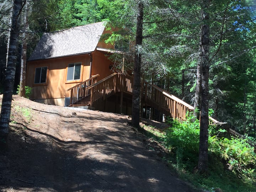
[[[44, 33], [27, 62], [26, 85], [33, 88], [31, 100], [50, 105], [69, 105], [71, 87], [97, 75], [111, 75], [108, 55], [114, 46], [102, 34], [106, 22]], [[69, 91], [68, 91], [69, 90]]]

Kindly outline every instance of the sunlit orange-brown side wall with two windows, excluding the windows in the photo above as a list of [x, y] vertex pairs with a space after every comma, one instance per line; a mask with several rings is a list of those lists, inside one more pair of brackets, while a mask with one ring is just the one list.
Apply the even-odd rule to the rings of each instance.
[[[26, 85], [33, 87], [31, 99], [69, 97], [70, 93], [66, 92], [67, 89], [78, 84], [79, 81], [82, 82], [89, 78], [90, 61], [89, 55], [79, 55], [28, 62]], [[66, 82], [68, 64], [75, 62], [81, 62], [82, 65], [80, 80], [78, 82]], [[35, 68], [42, 66], [47, 66], [49, 70], [47, 85], [34, 84]]]

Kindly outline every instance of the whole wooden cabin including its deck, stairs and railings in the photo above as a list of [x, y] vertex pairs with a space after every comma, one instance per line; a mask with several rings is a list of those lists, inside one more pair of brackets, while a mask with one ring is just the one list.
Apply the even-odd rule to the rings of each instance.
[[[109, 33], [105, 22], [44, 33], [27, 62], [26, 85], [31, 100], [58, 106], [93, 107], [131, 114], [133, 77], [113, 73], [108, 55], [114, 46], [102, 41]], [[182, 121], [189, 107], [164, 90], [146, 82], [142, 87], [142, 111], [150, 118], [158, 112]], [[159, 113], [160, 114], [160, 113]]]

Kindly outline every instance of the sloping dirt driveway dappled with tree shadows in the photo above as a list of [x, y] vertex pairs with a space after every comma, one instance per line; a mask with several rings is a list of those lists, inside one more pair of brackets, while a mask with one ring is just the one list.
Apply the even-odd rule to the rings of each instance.
[[1, 192], [198, 191], [128, 116], [13, 96], [10, 121], [8, 150], [0, 152]]

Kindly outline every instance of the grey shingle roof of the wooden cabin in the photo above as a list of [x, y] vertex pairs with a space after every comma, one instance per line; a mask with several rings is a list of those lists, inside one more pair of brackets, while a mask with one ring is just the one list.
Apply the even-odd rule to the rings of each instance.
[[63, 31], [44, 33], [28, 60], [92, 52], [95, 50], [104, 28], [105, 22], [98, 22]]

